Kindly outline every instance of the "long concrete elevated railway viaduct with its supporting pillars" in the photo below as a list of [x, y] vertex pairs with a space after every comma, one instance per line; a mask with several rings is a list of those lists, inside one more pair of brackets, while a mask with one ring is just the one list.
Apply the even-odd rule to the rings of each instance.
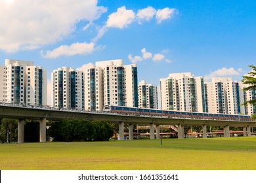
[[223, 126], [224, 137], [230, 137], [230, 126], [243, 127], [244, 136], [251, 136], [251, 127], [256, 127], [253, 121], [226, 121], [226, 120], [203, 120], [189, 118], [165, 118], [154, 116], [127, 116], [112, 113], [97, 113], [74, 110], [56, 110], [51, 108], [32, 108], [14, 105], [0, 105], [0, 118], [18, 119], [18, 143], [24, 142], [24, 120], [39, 120], [40, 142], [46, 142], [46, 121], [47, 120], [105, 120], [119, 124], [119, 139], [123, 139], [124, 124], [129, 125], [129, 139], [133, 139], [133, 125], [150, 124], [150, 139], [154, 139], [155, 128], [156, 138], [160, 139], [160, 125], [177, 125], [178, 138], [184, 138], [184, 126], [202, 126], [203, 137], [207, 137], [207, 126]]

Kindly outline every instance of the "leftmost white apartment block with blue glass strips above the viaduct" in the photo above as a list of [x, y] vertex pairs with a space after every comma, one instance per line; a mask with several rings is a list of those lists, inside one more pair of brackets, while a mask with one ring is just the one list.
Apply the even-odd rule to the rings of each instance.
[[[5, 59], [2, 99], [7, 103], [21, 105], [47, 105], [47, 72], [33, 61]], [[5, 85], [5, 87], [4, 87]], [[2, 87], [1, 87], [2, 88]], [[1, 92], [2, 93], [2, 92]]]

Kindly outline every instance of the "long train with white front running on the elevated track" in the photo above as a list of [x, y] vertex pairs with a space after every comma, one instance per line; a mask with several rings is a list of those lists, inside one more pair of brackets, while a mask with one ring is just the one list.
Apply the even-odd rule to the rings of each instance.
[[160, 110], [155, 108], [125, 107], [117, 105], [104, 105], [103, 112], [135, 116], [158, 116], [166, 118], [192, 118], [208, 120], [234, 120], [250, 121], [251, 116], [244, 114], [210, 114], [207, 112], [185, 112], [179, 110]]

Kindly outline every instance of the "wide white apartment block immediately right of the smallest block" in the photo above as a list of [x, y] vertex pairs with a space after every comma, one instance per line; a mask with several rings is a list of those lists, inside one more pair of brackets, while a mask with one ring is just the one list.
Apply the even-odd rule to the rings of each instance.
[[160, 91], [163, 110], [207, 112], [202, 76], [169, 74], [168, 78], [160, 79]]

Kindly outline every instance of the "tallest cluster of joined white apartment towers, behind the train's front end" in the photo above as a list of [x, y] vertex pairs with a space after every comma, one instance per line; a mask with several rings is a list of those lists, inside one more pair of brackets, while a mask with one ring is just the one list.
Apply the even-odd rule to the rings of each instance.
[[53, 104], [58, 108], [102, 111], [105, 104], [138, 107], [137, 66], [122, 59], [98, 61], [83, 71], [53, 71]]

